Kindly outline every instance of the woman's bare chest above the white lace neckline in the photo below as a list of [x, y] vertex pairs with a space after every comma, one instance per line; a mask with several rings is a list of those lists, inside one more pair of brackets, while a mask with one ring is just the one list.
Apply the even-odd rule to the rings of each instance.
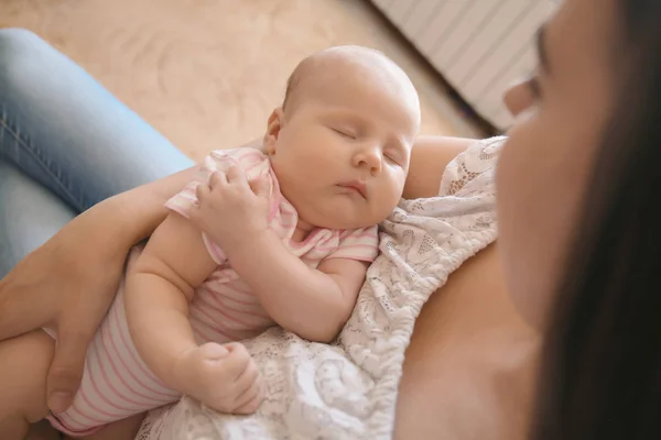
[[423, 307], [405, 354], [394, 438], [523, 439], [538, 341], [509, 299], [492, 244]]

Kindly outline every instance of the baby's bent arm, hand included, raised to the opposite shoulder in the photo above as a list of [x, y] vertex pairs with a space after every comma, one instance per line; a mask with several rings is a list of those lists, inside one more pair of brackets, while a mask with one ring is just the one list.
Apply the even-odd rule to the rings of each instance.
[[[367, 271], [362, 260], [377, 255], [377, 229], [343, 232], [332, 257], [310, 268], [269, 229], [269, 193], [264, 180], [249, 186], [245, 172], [230, 167], [197, 187], [199, 204], [189, 217], [220, 245], [275, 322], [302, 338], [328, 342], [351, 314]], [[362, 246], [368, 251], [351, 251]]]

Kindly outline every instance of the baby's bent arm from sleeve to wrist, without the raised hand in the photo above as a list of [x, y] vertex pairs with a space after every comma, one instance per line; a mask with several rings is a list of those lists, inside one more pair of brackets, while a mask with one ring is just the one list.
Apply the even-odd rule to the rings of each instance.
[[332, 341], [344, 327], [368, 267], [361, 261], [328, 258], [310, 268], [270, 230], [226, 253], [275, 322], [319, 342]]

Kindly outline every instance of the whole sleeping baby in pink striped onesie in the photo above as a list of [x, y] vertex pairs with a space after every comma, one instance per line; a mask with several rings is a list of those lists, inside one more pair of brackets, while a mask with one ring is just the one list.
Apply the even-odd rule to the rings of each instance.
[[[262, 382], [238, 341], [275, 324], [311, 341], [337, 336], [377, 256], [377, 224], [402, 196], [419, 127], [418, 94], [383, 54], [342, 46], [305, 58], [262, 148], [213, 152], [133, 250], [69, 409], [48, 414], [45, 402], [55, 331], [0, 343], [2, 438], [44, 417], [71, 437], [132, 438], [145, 411], [182, 394], [257, 410]], [[207, 207], [224, 215], [205, 217]]]

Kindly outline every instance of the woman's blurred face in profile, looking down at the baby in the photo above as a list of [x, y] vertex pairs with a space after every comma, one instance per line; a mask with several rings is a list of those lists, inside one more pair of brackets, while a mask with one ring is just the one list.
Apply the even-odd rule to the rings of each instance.
[[614, 106], [616, 16], [616, 0], [565, 1], [540, 31], [533, 78], [505, 97], [517, 122], [497, 175], [499, 249], [519, 312], [540, 329]]

